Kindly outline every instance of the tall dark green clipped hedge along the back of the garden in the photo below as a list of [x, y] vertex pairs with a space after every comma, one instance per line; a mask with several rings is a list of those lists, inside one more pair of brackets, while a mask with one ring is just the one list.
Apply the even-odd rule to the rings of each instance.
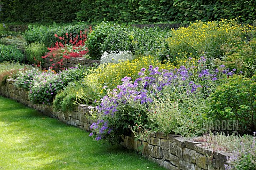
[[[1, 20], [21, 22], [189, 22], [256, 19], [255, 0], [2, 0]], [[240, 16], [240, 17], [239, 17]]]

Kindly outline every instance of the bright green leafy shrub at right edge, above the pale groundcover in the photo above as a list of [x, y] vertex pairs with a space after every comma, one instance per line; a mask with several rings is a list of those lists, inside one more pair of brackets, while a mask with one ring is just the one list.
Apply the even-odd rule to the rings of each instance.
[[239, 133], [256, 131], [256, 76], [234, 76], [211, 95], [209, 116], [217, 120], [237, 120]]

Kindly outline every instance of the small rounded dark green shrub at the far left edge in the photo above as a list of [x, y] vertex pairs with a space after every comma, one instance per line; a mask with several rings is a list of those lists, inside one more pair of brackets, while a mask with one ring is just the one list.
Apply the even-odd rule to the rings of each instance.
[[23, 53], [12, 45], [0, 44], [0, 62], [15, 61], [23, 62], [25, 60]]

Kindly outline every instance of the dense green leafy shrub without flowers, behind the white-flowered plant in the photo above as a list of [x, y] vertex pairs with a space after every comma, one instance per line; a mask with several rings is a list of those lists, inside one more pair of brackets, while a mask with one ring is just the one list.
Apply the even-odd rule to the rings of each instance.
[[131, 51], [137, 55], [164, 55], [158, 49], [170, 36], [167, 29], [136, 28], [102, 22], [88, 35], [86, 46], [93, 59], [99, 60], [104, 52]]

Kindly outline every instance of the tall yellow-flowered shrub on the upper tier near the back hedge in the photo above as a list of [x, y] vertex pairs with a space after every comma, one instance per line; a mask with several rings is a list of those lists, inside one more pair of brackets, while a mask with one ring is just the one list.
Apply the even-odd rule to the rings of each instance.
[[234, 37], [241, 37], [242, 41], [246, 41], [246, 36], [254, 32], [252, 28], [241, 26], [235, 20], [197, 21], [187, 28], [181, 27], [173, 30], [172, 37], [166, 39], [168, 46], [165, 51], [169, 53], [167, 59], [174, 61], [202, 55], [207, 55], [209, 58], [221, 58], [222, 44], [229, 43]]

